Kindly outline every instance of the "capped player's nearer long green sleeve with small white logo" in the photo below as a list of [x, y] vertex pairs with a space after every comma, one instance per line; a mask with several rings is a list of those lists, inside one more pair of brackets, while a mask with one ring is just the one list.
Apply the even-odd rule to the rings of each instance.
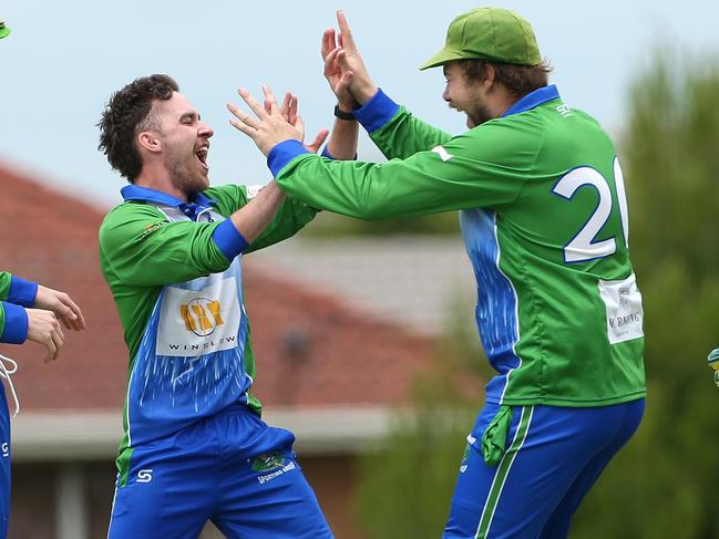
[[517, 198], [536, 159], [541, 141], [532, 129], [487, 122], [433, 151], [384, 164], [301, 154], [276, 180], [311, 206], [360, 219], [497, 208]]

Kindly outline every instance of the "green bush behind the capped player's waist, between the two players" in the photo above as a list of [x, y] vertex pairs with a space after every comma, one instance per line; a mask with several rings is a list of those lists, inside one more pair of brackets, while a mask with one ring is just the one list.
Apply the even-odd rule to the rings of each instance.
[[360, 459], [357, 514], [372, 539], [442, 535], [456, 474], [482, 403], [489, 366], [473, 307], [456, 298], [455, 320], [438, 345], [433, 369], [413, 387], [411, 408], [396, 414], [391, 434]]

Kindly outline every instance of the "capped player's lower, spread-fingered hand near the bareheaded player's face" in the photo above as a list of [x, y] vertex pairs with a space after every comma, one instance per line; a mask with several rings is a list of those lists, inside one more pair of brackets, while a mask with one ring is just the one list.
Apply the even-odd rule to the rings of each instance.
[[[305, 124], [301, 117], [297, 114], [297, 100], [289, 97], [286, 106], [286, 116], [277, 104], [273, 91], [263, 86], [265, 96], [264, 105], [253, 97], [253, 95], [245, 89], [237, 91], [247, 106], [255, 113], [256, 117], [245, 113], [237, 105], [232, 103], [227, 104], [227, 110], [235, 116], [229, 123], [237, 129], [247, 135], [257, 145], [259, 151], [267, 155], [270, 149], [285, 141], [299, 141], [302, 142], [305, 137]], [[288, 97], [285, 96], [287, 102]], [[295, 123], [290, 123], [295, 120]], [[319, 146], [327, 138], [328, 131], [322, 129], [315, 137], [315, 141], [306, 146], [311, 152], [317, 152]]]

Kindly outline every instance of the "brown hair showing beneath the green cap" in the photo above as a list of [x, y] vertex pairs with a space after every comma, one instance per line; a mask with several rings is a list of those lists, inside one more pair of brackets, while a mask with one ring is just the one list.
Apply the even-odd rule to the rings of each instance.
[[517, 65], [491, 60], [460, 60], [462, 72], [466, 81], [484, 82], [486, 68], [494, 68], [494, 80], [502, 83], [510, 95], [523, 97], [530, 92], [548, 84], [548, 74], [552, 71], [549, 63], [544, 60], [537, 65]]

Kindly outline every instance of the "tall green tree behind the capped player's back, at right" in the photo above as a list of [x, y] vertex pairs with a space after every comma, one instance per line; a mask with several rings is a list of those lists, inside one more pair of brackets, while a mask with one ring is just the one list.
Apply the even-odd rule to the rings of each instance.
[[577, 511], [573, 537], [719, 538], [719, 63], [662, 51], [622, 144], [645, 300], [647, 412]]

